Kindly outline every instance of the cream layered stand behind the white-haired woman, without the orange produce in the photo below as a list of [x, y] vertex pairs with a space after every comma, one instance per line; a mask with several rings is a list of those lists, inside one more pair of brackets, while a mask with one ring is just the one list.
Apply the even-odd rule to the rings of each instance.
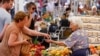
[[83, 20], [83, 29], [89, 37], [89, 43], [100, 45], [100, 18], [97, 16], [82, 16], [81, 19]]

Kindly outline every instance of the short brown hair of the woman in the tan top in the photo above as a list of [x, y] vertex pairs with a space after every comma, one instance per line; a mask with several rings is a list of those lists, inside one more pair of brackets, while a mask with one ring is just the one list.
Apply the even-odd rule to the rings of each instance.
[[18, 12], [15, 14], [15, 16], [14, 16], [14, 21], [18, 23], [19, 21], [24, 20], [24, 18], [25, 18], [26, 16], [28, 16], [28, 18], [29, 18], [29, 14], [26, 14], [26, 13], [23, 12], [23, 11], [18, 11]]

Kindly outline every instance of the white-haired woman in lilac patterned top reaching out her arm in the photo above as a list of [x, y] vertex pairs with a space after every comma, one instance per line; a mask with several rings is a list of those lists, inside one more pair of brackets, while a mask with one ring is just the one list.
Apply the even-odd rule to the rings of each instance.
[[72, 56], [86, 56], [88, 51], [88, 37], [82, 30], [82, 21], [80, 18], [73, 17], [70, 19], [70, 28], [73, 33], [64, 42], [47, 40], [47, 42], [55, 43], [61, 46], [67, 46], [72, 49]]

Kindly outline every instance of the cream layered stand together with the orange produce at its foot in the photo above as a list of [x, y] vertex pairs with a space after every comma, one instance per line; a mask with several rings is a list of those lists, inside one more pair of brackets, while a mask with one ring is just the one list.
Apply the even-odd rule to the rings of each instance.
[[[79, 16], [83, 20], [83, 29], [87, 32], [89, 48], [92, 55], [100, 56], [100, 17]], [[94, 56], [96, 56], [94, 55]]]

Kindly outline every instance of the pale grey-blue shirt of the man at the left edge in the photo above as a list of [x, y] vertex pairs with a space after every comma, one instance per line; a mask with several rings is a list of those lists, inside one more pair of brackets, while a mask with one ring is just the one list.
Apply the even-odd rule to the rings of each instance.
[[4, 25], [11, 23], [11, 15], [5, 9], [0, 8], [0, 32], [3, 30]]

